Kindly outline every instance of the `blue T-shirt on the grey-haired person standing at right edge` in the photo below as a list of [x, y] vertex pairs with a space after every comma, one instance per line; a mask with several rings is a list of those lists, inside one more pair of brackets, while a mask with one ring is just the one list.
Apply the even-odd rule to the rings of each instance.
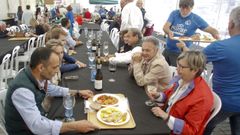
[[240, 35], [236, 35], [217, 41], [204, 50], [207, 56], [217, 56], [207, 59], [213, 63], [213, 90], [223, 100], [225, 110], [240, 111], [239, 43]]

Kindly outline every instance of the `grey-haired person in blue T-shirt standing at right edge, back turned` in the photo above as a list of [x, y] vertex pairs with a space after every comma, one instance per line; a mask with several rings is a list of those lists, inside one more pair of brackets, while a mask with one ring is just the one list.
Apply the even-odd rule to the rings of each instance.
[[[229, 39], [216, 41], [204, 48], [208, 62], [213, 64], [213, 91], [222, 100], [220, 112], [208, 123], [205, 135], [210, 135], [217, 124], [229, 118], [232, 135], [240, 135], [240, 6], [229, 17]], [[184, 51], [184, 43], [178, 44]]]

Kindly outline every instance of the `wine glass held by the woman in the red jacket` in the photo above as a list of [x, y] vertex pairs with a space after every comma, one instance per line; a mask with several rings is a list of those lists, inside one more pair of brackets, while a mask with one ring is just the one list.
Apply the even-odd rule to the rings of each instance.
[[[157, 93], [157, 90], [158, 90], [158, 82], [157, 81], [149, 83], [146, 87], [146, 93], [148, 96], [151, 96], [152, 94]], [[152, 99], [145, 101], [145, 104], [147, 106], [156, 105], [156, 103]]]

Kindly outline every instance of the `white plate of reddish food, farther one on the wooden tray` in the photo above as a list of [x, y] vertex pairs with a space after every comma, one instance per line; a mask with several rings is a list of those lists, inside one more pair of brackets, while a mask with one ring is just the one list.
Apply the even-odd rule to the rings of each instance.
[[95, 95], [93, 102], [99, 103], [102, 107], [116, 106], [120, 102], [120, 97], [115, 94], [102, 93]]

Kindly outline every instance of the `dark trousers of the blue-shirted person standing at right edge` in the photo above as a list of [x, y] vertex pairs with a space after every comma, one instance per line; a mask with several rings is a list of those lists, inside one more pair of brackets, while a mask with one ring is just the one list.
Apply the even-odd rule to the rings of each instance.
[[219, 113], [207, 124], [204, 135], [211, 135], [217, 124], [229, 118], [231, 135], [240, 135], [240, 112], [224, 112], [222, 109]]

